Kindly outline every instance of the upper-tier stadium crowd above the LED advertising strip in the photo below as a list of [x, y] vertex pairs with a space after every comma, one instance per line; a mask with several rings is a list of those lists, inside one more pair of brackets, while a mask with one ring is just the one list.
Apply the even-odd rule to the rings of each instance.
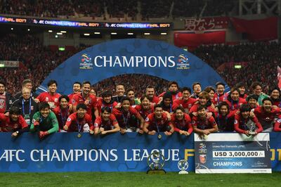
[[[138, 2], [141, 4], [141, 16], [143, 20], [149, 18], [168, 18], [170, 15], [173, 18], [186, 18], [199, 16], [202, 12], [203, 16], [210, 15], [227, 15], [228, 12], [236, 10], [237, 13], [237, 0], [234, 1], [112, 1], [112, 0], [14, 0], [0, 1], [0, 13], [11, 15], [30, 15], [45, 18], [58, 18], [70, 17], [74, 15], [82, 15], [85, 17], [104, 17], [105, 9], [110, 15], [110, 18], [124, 18], [125, 15], [136, 19], [138, 13]], [[174, 4], [174, 6], [172, 6]], [[236, 7], [236, 8], [235, 8]]]

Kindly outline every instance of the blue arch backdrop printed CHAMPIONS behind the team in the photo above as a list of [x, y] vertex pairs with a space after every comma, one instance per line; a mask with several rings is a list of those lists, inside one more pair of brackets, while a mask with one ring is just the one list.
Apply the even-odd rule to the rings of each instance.
[[91, 46], [68, 58], [46, 77], [39, 89], [46, 90], [48, 81], [55, 79], [58, 93], [68, 94], [76, 81], [96, 84], [123, 74], [152, 75], [174, 80], [181, 87], [200, 82], [204, 88], [224, 82], [207, 63], [176, 46], [150, 39], [119, 39]]

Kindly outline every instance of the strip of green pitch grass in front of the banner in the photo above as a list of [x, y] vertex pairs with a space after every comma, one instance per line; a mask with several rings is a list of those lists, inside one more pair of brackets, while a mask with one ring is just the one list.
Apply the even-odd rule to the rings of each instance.
[[145, 174], [145, 172], [0, 173], [0, 186], [281, 186], [273, 174]]

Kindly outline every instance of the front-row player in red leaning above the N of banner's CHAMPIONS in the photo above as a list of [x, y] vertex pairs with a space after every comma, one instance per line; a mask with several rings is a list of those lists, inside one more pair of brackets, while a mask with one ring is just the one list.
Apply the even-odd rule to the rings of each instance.
[[116, 117], [112, 115], [110, 107], [104, 107], [101, 109], [101, 116], [95, 120], [94, 133], [96, 134], [109, 134], [120, 131], [119, 124]]

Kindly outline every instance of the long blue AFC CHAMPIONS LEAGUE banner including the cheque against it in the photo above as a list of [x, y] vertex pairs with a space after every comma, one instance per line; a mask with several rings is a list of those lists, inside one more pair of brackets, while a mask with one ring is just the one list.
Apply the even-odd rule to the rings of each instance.
[[280, 133], [270, 133], [270, 146], [268, 134], [251, 141], [241, 141], [240, 134], [211, 134], [207, 141], [194, 141], [194, 136], [162, 134], [159, 140], [133, 132], [103, 137], [85, 133], [81, 138], [55, 133], [40, 141], [37, 134], [12, 139], [11, 133], [1, 133], [0, 172], [146, 172], [154, 151], [164, 156], [166, 172], [178, 172], [180, 160], [188, 160], [188, 172], [281, 171]]

